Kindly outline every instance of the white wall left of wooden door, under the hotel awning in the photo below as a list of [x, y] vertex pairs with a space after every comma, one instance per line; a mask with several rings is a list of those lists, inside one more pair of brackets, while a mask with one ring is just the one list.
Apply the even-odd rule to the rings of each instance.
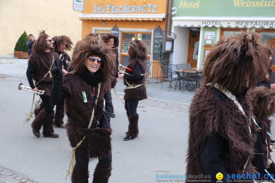
[[174, 40], [174, 52], [172, 64], [187, 63], [188, 44], [189, 44], [189, 27], [173, 27], [172, 32], [177, 35]]

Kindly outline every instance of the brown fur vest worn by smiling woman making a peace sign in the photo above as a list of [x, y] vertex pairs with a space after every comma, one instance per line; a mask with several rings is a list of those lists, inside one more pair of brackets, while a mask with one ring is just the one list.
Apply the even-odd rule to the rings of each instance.
[[[93, 101], [89, 86], [75, 72], [69, 72], [64, 75], [63, 87], [68, 91], [69, 97], [65, 99], [65, 113], [68, 121], [66, 124], [67, 136], [70, 145], [75, 147], [76, 144], [84, 137], [81, 146], [88, 150], [89, 158], [103, 158], [111, 153], [111, 129], [95, 128], [95, 116], [92, 126], [88, 129], [90, 118], [92, 116]], [[101, 81], [101, 88], [97, 102], [97, 109], [103, 114], [101, 109], [104, 94], [110, 90], [111, 82], [109, 80]], [[82, 91], [85, 91], [87, 102], [84, 103]], [[96, 86], [96, 91], [98, 87]]]

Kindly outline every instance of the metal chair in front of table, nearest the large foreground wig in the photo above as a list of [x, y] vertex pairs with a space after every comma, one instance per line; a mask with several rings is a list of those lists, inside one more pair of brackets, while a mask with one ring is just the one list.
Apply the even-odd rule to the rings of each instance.
[[[184, 84], [186, 83], [187, 90], [191, 92], [191, 85], [195, 86], [195, 89], [198, 86], [198, 72], [196, 69], [183, 69], [183, 85], [182, 85], [182, 93]], [[189, 86], [189, 89], [188, 89]]]

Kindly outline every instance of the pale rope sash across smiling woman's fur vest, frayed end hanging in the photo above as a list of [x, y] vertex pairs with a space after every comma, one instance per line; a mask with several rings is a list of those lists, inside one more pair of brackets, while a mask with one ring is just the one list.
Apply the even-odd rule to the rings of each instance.
[[[100, 86], [101, 86], [101, 82], [98, 84], [97, 98], [99, 96]], [[97, 104], [97, 99], [95, 99], [95, 103]], [[93, 108], [92, 117], [90, 119], [90, 123], [89, 123], [88, 129], [91, 128], [91, 125], [92, 125], [92, 122], [93, 122], [93, 119], [94, 119], [94, 114], [95, 114], [95, 110]], [[78, 148], [80, 146], [80, 144], [83, 142], [83, 140], [85, 139], [85, 137], [86, 136], [84, 135], [84, 137], [82, 138], [82, 140], [80, 140], [80, 142], [78, 142], [78, 144], [76, 144], [76, 147], [72, 147], [72, 157], [71, 157], [70, 165], [67, 168], [67, 170], [65, 171], [65, 174], [67, 176], [70, 175], [71, 173], [73, 173], [73, 169], [75, 168], [75, 150], [76, 150], [76, 148]], [[65, 180], [67, 179], [67, 176], [66, 176]]]

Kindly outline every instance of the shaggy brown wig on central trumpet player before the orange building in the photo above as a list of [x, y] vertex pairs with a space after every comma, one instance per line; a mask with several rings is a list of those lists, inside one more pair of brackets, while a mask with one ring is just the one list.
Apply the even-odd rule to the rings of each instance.
[[147, 48], [145, 44], [140, 40], [131, 41], [129, 44], [128, 55], [130, 59], [138, 58], [141, 60], [147, 60]]

